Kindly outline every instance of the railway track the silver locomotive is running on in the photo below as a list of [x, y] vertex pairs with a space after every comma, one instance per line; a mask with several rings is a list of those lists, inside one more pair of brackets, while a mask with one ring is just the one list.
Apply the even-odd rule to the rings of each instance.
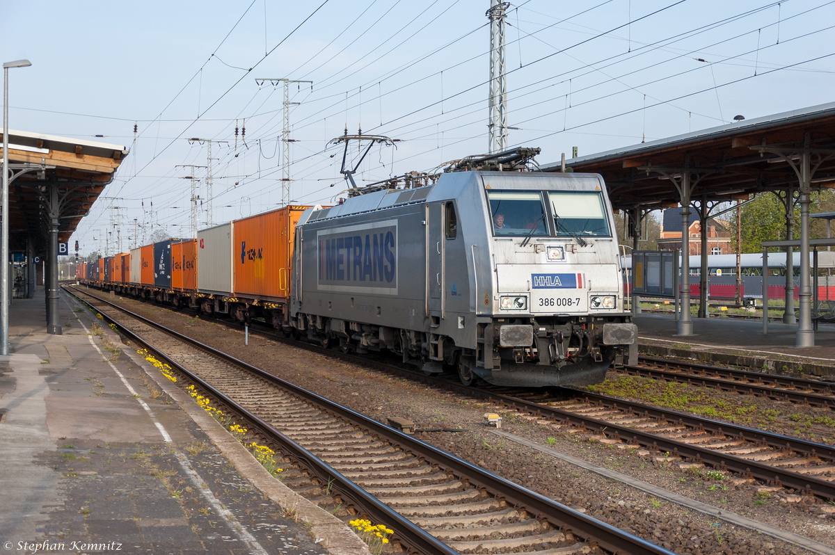
[[[266, 336], [276, 339], [271, 333]], [[293, 345], [480, 398], [505, 410], [548, 419], [567, 432], [579, 428], [590, 438], [623, 448], [644, 449], [660, 462], [707, 465], [721, 472], [736, 473], [743, 480], [835, 499], [835, 482], [819, 477], [835, 475], [835, 449], [827, 445], [587, 391], [574, 390], [574, 400], [560, 401], [561, 397], [547, 389], [466, 387], [454, 379], [424, 376], [422, 372], [386, 362], [346, 356], [304, 343], [293, 342]]]

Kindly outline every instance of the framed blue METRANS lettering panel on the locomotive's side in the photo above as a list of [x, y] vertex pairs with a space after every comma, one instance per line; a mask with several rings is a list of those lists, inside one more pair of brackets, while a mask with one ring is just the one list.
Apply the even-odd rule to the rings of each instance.
[[397, 222], [320, 231], [316, 250], [320, 290], [397, 294]]

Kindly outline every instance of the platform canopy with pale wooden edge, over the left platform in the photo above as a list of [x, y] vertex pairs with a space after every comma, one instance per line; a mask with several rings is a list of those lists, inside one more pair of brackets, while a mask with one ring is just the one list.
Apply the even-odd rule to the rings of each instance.
[[51, 215], [58, 214], [58, 240], [69, 240], [128, 154], [119, 144], [11, 129], [8, 144], [9, 249], [36, 255], [47, 251]]

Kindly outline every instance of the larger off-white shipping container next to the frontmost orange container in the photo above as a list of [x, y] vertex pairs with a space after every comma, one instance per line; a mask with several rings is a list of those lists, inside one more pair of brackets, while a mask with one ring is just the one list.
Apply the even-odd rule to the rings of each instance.
[[232, 295], [232, 222], [197, 232], [197, 290]]

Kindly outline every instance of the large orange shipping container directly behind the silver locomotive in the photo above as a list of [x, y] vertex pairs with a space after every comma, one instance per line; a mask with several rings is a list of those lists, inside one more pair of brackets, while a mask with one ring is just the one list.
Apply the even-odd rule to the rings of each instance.
[[235, 219], [235, 296], [286, 300], [290, 295], [293, 231], [308, 206], [288, 206]]

